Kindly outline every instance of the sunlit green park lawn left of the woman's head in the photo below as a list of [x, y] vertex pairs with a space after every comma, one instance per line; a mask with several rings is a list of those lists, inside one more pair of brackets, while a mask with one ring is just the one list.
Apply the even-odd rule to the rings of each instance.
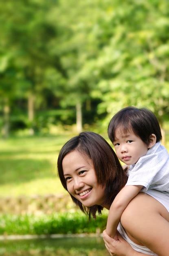
[[57, 177], [57, 157], [71, 137], [0, 139], [0, 196], [65, 193]]

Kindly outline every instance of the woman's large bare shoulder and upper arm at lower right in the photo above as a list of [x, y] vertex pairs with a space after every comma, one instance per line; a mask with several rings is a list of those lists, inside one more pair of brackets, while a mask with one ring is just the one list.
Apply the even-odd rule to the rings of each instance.
[[169, 254], [169, 213], [156, 199], [139, 193], [123, 211], [121, 224], [131, 240], [159, 256]]

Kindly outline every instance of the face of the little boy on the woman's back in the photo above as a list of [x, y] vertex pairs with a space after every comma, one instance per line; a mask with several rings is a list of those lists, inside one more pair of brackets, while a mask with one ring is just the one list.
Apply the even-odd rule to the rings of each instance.
[[117, 157], [127, 165], [136, 164], [140, 157], [147, 154], [148, 150], [147, 145], [131, 129], [125, 134], [118, 128], [113, 145]]

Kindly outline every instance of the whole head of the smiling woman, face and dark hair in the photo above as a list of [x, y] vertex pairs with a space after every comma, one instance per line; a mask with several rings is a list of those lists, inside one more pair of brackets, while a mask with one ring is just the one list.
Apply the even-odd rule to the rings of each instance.
[[[89, 218], [95, 218], [103, 207], [108, 208], [127, 181], [114, 150], [94, 132], [82, 132], [63, 146], [58, 173], [72, 200]], [[87, 190], [85, 197], [82, 194]]]

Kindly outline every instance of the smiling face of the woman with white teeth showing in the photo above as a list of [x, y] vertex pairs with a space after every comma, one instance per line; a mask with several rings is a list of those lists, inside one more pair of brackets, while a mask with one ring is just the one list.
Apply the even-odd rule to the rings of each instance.
[[68, 192], [84, 206], [103, 206], [104, 188], [97, 183], [92, 160], [74, 150], [62, 162]]

